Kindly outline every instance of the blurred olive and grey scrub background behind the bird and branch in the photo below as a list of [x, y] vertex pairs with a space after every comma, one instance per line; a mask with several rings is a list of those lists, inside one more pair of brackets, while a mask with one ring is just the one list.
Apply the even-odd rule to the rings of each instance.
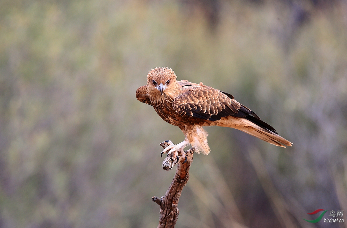
[[[0, 227], [156, 227], [184, 139], [135, 98], [154, 67], [293, 142], [211, 127], [177, 227], [347, 227], [347, 1], [2, 0]], [[344, 223], [309, 223], [316, 209]]]

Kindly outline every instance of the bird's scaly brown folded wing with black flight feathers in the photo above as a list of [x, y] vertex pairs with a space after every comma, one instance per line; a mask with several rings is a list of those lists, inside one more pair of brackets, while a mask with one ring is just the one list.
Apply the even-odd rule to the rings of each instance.
[[[189, 84], [187, 82], [187, 84]], [[222, 117], [233, 116], [245, 118], [252, 123], [276, 133], [276, 130], [260, 118], [251, 109], [237, 102], [228, 93], [214, 89], [210, 86], [187, 85], [188, 90], [183, 90], [172, 103], [174, 110], [180, 115], [192, 116], [200, 119], [218, 121]], [[183, 86], [184, 87], [184, 86]]]

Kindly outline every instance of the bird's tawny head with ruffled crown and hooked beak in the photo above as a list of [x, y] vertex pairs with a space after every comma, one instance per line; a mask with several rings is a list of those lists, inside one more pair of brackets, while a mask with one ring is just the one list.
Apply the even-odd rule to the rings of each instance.
[[173, 94], [177, 86], [175, 72], [167, 67], [156, 67], [147, 74], [147, 93], [150, 97]]

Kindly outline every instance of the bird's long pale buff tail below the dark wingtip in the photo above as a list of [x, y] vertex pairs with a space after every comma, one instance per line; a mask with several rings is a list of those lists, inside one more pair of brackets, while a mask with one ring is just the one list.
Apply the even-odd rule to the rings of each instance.
[[293, 144], [278, 135], [269, 124], [259, 119], [248, 120], [242, 117], [227, 116], [215, 122], [218, 126], [235, 128], [279, 147], [291, 147]]

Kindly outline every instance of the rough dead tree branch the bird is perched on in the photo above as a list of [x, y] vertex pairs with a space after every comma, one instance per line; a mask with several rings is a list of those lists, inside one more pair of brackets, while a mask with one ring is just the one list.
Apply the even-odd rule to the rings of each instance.
[[[160, 143], [160, 146], [166, 148], [168, 144], [167, 142], [162, 142]], [[168, 191], [166, 191], [165, 195], [161, 198], [156, 196], [152, 197], [152, 200], [160, 205], [159, 225], [157, 228], [173, 228], [176, 225], [179, 214], [177, 204], [183, 187], [186, 185], [189, 178], [189, 168], [193, 161], [194, 150], [191, 148], [184, 152], [187, 155], [187, 161], [183, 163], [183, 160], [181, 160], [182, 156], [180, 156], [175, 177], [172, 180]], [[170, 158], [165, 158], [163, 161], [163, 169], [170, 170], [173, 165], [172, 163], [173, 161]]]

